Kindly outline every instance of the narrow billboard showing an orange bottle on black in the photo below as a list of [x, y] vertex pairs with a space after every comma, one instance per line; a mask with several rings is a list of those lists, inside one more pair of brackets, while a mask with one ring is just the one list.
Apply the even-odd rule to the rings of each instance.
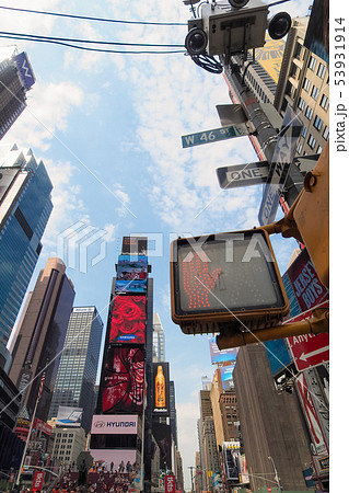
[[170, 416], [168, 363], [153, 363], [153, 414]]

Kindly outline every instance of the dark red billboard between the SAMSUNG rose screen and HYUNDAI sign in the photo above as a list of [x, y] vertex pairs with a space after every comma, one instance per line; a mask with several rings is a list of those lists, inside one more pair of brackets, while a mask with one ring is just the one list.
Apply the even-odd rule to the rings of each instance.
[[100, 391], [100, 409], [104, 414], [142, 412], [144, 366], [144, 349], [109, 347]]

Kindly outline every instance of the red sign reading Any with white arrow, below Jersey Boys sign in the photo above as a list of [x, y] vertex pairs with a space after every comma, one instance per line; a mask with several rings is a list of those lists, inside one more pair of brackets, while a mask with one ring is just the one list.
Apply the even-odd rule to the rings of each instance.
[[[328, 301], [319, 305], [319, 307], [328, 307]], [[312, 310], [307, 310], [287, 323], [298, 322], [312, 318]], [[288, 337], [293, 359], [299, 371], [307, 369], [312, 366], [321, 365], [329, 360], [329, 334], [302, 334]]]

